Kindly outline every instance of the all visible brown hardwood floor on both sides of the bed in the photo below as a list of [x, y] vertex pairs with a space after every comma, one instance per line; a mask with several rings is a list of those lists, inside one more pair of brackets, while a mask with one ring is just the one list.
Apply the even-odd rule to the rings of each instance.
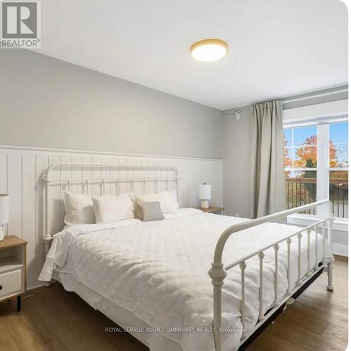
[[[347, 346], [347, 260], [337, 258], [335, 291], [322, 274], [269, 326], [248, 350], [345, 350]], [[0, 351], [144, 351], [128, 333], [106, 333], [115, 324], [60, 284], [29, 291], [23, 310], [0, 303]], [[205, 351], [205, 350], [204, 350]]]

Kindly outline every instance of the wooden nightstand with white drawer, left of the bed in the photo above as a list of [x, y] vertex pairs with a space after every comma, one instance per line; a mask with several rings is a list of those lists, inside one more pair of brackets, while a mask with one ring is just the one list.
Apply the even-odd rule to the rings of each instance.
[[9, 235], [0, 241], [0, 302], [17, 298], [20, 312], [20, 297], [26, 284], [27, 241]]

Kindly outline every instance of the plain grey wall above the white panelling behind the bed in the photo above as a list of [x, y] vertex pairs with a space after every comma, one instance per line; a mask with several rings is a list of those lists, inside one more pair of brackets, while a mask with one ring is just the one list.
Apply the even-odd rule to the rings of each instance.
[[222, 113], [32, 51], [1, 50], [0, 145], [222, 158]]

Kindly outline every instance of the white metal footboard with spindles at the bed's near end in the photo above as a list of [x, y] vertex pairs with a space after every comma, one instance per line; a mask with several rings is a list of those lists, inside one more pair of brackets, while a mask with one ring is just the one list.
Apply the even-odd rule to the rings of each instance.
[[[325, 219], [318, 220], [316, 223], [313, 223], [312, 225], [308, 225], [307, 227], [304, 227], [301, 230], [298, 230], [297, 232], [291, 234], [289, 237], [286, 237], [284, 239], [281, 239], [279, 241], [274, 242], [273, 244], [269, 244], [265, 247], [263, 247], [260, 250], [257, 250], [253, 253], [250, 253], [249, 255], [239, 258], [238, 260], [235, 260], [233, 263], [229, 263], [228, 265], [224, 266], [224, 263], [222, 262], [222, 253], [224, 250], [224, 246], [226, 244], [226, 241], [231, 237], [232, 234], [235, 234], [236, 232], [240, 232], [241, 230], [248, 229], [250, 227], [255, 227], [256, 225], [261, 225], [262, 223], [267, 223], [267, 222], [272, 222], [273, 220], [279, 220], [281, 218], [286, 218], [286, 216], [292, 215], [293, 213], [298, 213], [301, 211], [306, 211], [309, 208], [314, 208], [317, 206], [322, 206], [322, 205], [329, 205], [329, 214], [326, 216]], [[267, 325], [267, 322], [272, 321], [272, 316], [276, 314], [276, 312], [279, 312], [279, 310], [282, 310], [282, 307], [286, 307], [286, 305], [293, 303], [293, 300], [295, 300], [294, 296], [295, 294], [300, 291], [300, 289], [305, 290], [310, 282], [313, 282], [314, 279], [317, 278], [317, 276], [321, 273], [321, 270], [327, 269], [328, 272], [328, 285], [326, 286], [326, 289], [333, 291], [333, 259], [326, 258], [325, 256], [325, 240], [323, 240], [323, 259], [321, 264], [318, 261], [317, 254], [316, 254], [316, 261], [314, 264], [311, 263], [311, 260], [309, 258], [310, 256], [310, 245], [309, 245], [309, 240], [310, 240], [310, 235], [311, 235], [311, 228], [314, 228], [314, 234], [316, 235], [316, 244], [315, 244], [315, 251], [316, 253], [318, 252], [318, 241], [317, 241], [317, 230], [319, 227], [321, 227], [321, 232], [323, 239], [326, 239], [326, 227], [328, 229], [328, 243], [332, 244], [332, 225], [333, 225], [333, 220], [334, 216], [331, 212], [331, 201], [324, 200], [324, 201], [318, 201], [314, 202], [313, 204], [308, 204], [304, 206], [300, 206], [297, 208], [292, 208], [287, 211], [281, 211], [279, 213], [274, 213], [269, 216], [264, 216], [261, 218], [257, 218], [255, 220], [249, 220], [248, 222], [245, 223], [239, 223], [236, 225], [231, 225], [230, 227], [226, 228], [224, 232], [222, 232], [221, 236], [219, 237], [217, 241], [217, 245], [215, 248], [215, 256], [213, 258], [213, 263], [212, 267], [210, 268], [208, 274], [210, 275], [212, 279], [212, 285], [213, 285], [213, 326], [215, 330], [215, 347], [216, 351], [222, 351], [222, 334], [223, 332], [221, 331], [222, 327], [222, 286], [224, 284], [224, 279], [226, 277], [226, 271], [230, 270], [233, 267], [239, 266], [241, 269], [241, 322], [243, 325], [243, 333], [241, 337], [241, 346], [244, 346], [245, 343], [247, 343], [248, 339], [250, 336], [253, 336], [256, 331], [259, 331], [261, 327], [264, 328], [265, 324]], [[302, 277], [301, 274], [301, 238], [302, 234], [306, 232], [307, 234], [307, 273]], [[291, 272], [291, 253], [290, 253], [290, 245], [291, 245], [291, 238], [293, 237], [298, 237], [298, 282], [295, 286], [291, 286], [290, 282], [290, 272]], [[283, 244], [283, 242], [286, 242], [287, 248], [288, 248], [288, 291], [286, 292], [286, 297], [283, 299], [283, 301], [278, 300], [278, 254], [279, 254], [279, 245]], [[274, 307], [272, 307], [269, 312], [264, 314], [263, 311], [263, 259], [264, 259], [264, 251], [274, 248], [275, 252], [275, 270], [274, 270]], [[313, 248], [312, 248], [313, 249]], [[260, 314], [258, 317], [258, 322], [255, 325], [255, 328], [253, 331], [251, 331], [249, 334], [245, 332], [245, 267], [246, 263], [245, 261], [248, 260], [249, 258], [252, 258], [254, 256], [258, 256], [260, 259], [260, 293], [259, 293], [259, 299], [260, 299]], [[305, 286], [305, 289], [303, 289]], [[299, 293], [298, 293], [299, 295]], [[279, 313], [278, 313], [279, 314]], [[239, 347], [240, 348], [240, 347]], [[245, 348], [245, 347], [243, 347]]]

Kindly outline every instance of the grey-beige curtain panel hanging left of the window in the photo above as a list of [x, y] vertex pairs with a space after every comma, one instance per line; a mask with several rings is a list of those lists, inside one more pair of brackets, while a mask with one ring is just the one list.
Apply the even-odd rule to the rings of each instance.
[[253, 214], [286, 209], [281, 101], [253, 105]]

